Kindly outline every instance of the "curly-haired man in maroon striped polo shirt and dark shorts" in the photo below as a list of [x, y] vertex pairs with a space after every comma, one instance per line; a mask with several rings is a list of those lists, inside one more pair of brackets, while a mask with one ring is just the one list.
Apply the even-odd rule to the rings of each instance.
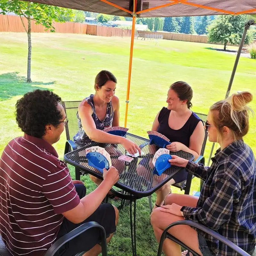
[[[118, 210], [101, 204], [119, 176], [104, 170], [103, 182], [85, 196], [73, 184], [67, 165], [52, 144], [68, 123], [61, 98], [48, 90], [26, 93], [16, 103], [16, 121], [24, 136], [11, 140], [0, 159], [0, 233], [13, 256], [44, 255], [56, 239], [84, 222], [102, 225], [110, 240]], [[98, 255], [100, 233], [89, 230], [62, 246], [57, 255]]]

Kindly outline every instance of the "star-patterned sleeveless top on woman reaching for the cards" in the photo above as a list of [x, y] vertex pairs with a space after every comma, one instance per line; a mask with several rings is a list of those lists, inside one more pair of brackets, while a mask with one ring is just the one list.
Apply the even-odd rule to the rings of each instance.
[[[113, 122], [113, 117], [114, 117], [112, 102], [110, 101], [107, 105], [107, 112], [106, 112], [105, 119], [103, 121], [100, 121], [95, 111], [93, 96], [94, 94], [91, 94], [89, 97], [85, 98], [85, 100], [92, 107], [92, 119], [95, 122], [96, 128], [99, 130], [103, 130], [107, 127], [111, 127]], [[76, 117], [77, 117], [79, 131], [73, 137], [74, 142], [78, 147], [84, 147], [84, 146], [90, 145], [93, 141], [84, 132], [81, 119], [78, 116], [78, 111], [77, 111]]]

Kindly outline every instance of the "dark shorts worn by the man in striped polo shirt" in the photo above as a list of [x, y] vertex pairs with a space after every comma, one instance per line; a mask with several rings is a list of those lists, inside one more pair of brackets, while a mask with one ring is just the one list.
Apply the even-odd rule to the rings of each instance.
[[[82, 184], [75, 184], [76, 192], [80, 198], [84, 197], [86, 194], [86, 188]], [[106, 231], [107, 236], [116, 231], [116, 212], [112, 204], [100, 204], [95, 212], [92, 213], [90, 217], [79, 224], [74, 224], [64, 218], [60, 231], [57, 238], [64, 236], [73, 229], [79, 227], [85, 222], [96, 221], [98, 222]], [[76, 255], [80, 252], [87, 252], [96, 244], [100, 244], [100, 230], [96, 228], [89, 229], [74, 239], [70, 240], [68, 243], [60, 247], [59, 251], [54, 254], [54, 256], [71, 256]]]

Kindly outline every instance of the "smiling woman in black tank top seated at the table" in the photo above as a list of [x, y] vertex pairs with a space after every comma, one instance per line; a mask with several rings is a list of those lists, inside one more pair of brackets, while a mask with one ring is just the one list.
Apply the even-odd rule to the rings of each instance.
[[[197, 159], [204, 141], [204, 124], [190, 110], [192, 107], [192, 96], [192, 88], [187, 83], [180, 81], [172, 84], [167, 94], [167, 108], [163, 107], [159, 111], [151, 130], [160, 132], [172, 142], [166, 147], [170, 151], [183, 150], [193, 154], [195, 159]], [[156, 152], [154, 145], [151, 145], [150, 151], [151, 153]], [[147, 168], [145, 168], [147, 165], [151, 168], [154, 167], [152, 159], [149, 161], [141, 160], [137, 168], [138, 174], [145, 178], [150, 175]], [[170, 185], [186, 179], [187, 172], [185, 169], [182, 169], [162, 188], [158, 189], [156, 191], [156, 204], [154, 208], [164, 204], [165, 197], [170, 193]]]

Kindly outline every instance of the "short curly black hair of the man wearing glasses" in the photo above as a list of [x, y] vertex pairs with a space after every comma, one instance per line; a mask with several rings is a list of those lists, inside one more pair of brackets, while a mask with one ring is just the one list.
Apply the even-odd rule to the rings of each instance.
[[45, 125], [60, 125], [58, 122], [63, 118], [61, 111], [57, 109], [60, 101], [61, 98], [57, 94], [48, 90], [26, 93], [15, 105], [16, 122], [21, 131], [42, 138]]

